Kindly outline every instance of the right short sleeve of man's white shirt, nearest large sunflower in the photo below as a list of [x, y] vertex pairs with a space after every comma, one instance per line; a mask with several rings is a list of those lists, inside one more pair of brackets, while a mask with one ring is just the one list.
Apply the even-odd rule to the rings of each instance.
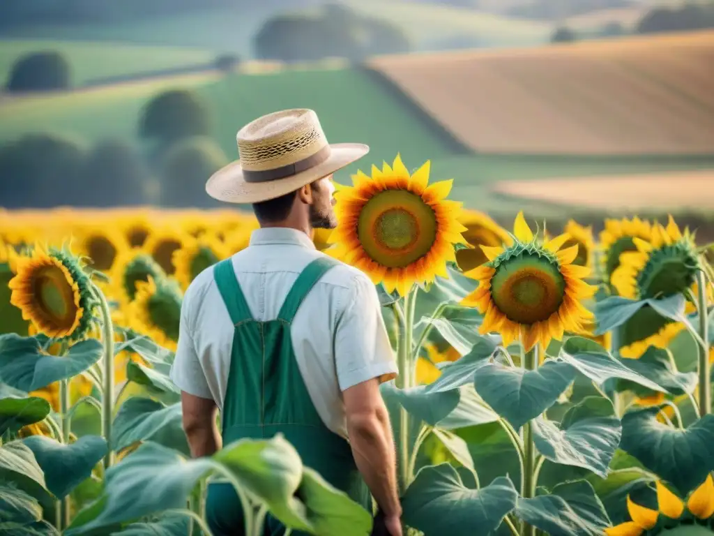
[[363, 274], [353, 277], [348, 299], [341, 303], [335, 331], [335, 362], [340, 389], [368, 379], [381, 382], [398, 374], [396, 357], [382, 317], [374, 284]]

